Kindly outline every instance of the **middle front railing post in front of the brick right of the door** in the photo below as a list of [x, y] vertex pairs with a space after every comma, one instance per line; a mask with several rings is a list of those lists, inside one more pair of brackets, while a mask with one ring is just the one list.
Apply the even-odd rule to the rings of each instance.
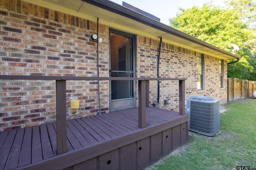
[[146, 127], [146, 80], [138, 81], [139, 89], [139, 128]]

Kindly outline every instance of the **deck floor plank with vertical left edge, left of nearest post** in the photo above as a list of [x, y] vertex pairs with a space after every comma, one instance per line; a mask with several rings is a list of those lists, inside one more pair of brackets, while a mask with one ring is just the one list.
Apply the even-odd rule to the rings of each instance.
[[42, 145], [40, 139], [40, 126], [32, 127], [32, 152], [31, 163], [37, 162], [43, 159]]

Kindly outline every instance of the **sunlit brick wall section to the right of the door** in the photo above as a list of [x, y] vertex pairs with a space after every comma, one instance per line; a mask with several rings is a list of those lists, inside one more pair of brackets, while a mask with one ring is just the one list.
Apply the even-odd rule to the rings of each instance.
[[[157, 77], [158, 50], [160, 40], [137, 36], [136, 76]], [[186, 78], [186, 97], [208, 96], [227, 99], [226, 75], [227, 64], [224, 60], [224, 88], [220, 89], [219, 59], [204, 55], [204, 90], [197, 90], [197, 60], [196, 52], [162, 42], [160, 56], [160, 77]], [[178, 111], [178, 82], [163, 81], [160, 83], [159, 106], [164, 108], [164, 99], [169, 100], [166, 109]], [[150, 84], [150, 102], [157, 102], [157, 81]]]

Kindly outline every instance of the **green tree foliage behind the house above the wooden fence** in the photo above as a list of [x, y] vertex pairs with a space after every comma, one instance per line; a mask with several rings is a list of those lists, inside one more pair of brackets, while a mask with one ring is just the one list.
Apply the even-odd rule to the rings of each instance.
[[180, 8], [169, 19], [170, 26], [229, 52], [231, 43], [243, 47], [236, 52], [242, 59], [228, 66], [228, 76], [256, 80], [256, 2], [228, 0], [226, 4], [225, 8], [212, 3]]

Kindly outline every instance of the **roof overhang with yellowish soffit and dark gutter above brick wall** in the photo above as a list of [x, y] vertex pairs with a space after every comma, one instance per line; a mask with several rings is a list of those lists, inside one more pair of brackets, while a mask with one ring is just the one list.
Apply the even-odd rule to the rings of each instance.
[[198, 53], [208, 54], [220, 59], [240, 59], [238, 55], [229, 53], [214, 45], [206, 43], [182, 31], [174, 29], [164, 23], [153, 20], [138, 12], [109, 0], [24, 0], [32, 4], [58, 10], [74, 16], [86, 18], [133, 34], [178, 45]]

